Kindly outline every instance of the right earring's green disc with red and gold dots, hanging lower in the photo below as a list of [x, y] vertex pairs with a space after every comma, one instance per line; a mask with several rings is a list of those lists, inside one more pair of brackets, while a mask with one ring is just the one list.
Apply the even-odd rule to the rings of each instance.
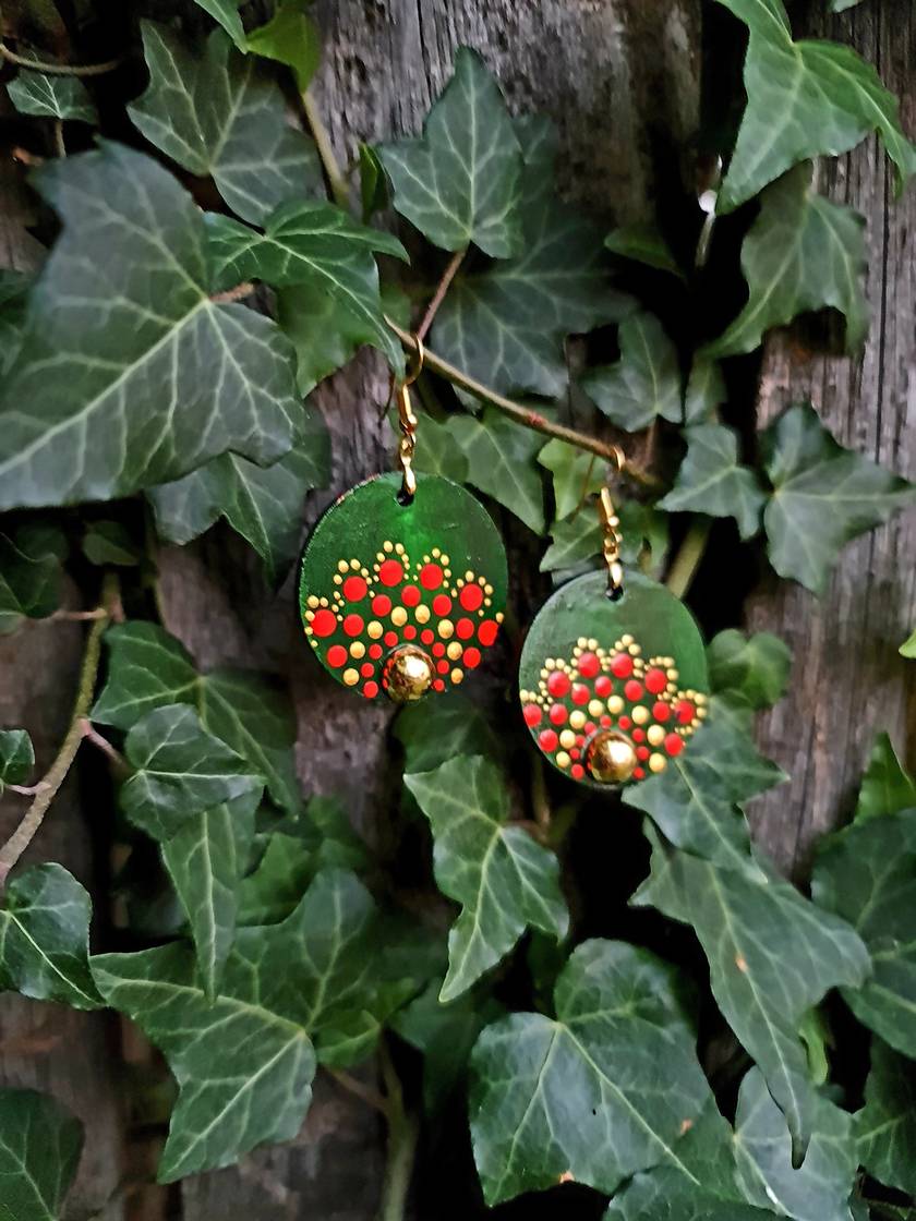
[[[531, 624], [519, 672], [537, 748], [601, 789], [663, 772], [702, 724], [708, 690], [700, 630], [673, 593], [639, 573], [628, 573], [617, 602], [606, 590], [603, 573], [559, 589]], [[624, 758], [602, 781], [598, 742]]]

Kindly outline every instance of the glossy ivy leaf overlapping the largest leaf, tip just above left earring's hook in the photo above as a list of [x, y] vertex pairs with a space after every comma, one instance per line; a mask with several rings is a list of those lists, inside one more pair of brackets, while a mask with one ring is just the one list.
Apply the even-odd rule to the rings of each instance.
[[371, 343], [394, 370], [403, 369], [401, 343], [385, 322], [374, 252], [405, 259], [390, 233], [357, 223], [341, 208], [288, 203], [271, 212], [264, 233], [228, 216], [208, 217], [217, 287], [263, 280], [283, 288], [304, 286], [313, 298], [330, 298], [352, 341]]

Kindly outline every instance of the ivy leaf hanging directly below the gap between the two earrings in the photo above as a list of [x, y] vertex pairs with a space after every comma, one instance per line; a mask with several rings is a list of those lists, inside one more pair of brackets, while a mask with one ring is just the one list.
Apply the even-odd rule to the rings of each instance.
[[569, 916], [557, 858], [508, 824], [509, 796], [493, 763], [459, 755], [404, 783], [432, 827], [436, 883], [462, 905], [448, 934], [445, 1004], [506, 957], [528, 927], [563, 938]]

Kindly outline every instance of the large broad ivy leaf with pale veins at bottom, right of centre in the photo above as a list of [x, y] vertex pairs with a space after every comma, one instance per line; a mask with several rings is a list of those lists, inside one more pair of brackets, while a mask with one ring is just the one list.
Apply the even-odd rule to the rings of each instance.
[[556, 1020], [513, 1013], [474, 1049], [471, 1138], [490, 1206], [567, 1173], [611, 1193], [638, 1170], [682, 1167], [678, 1137], [710, 1096], [677, 976], [655, 955], [585, 941], [554, 1001]]

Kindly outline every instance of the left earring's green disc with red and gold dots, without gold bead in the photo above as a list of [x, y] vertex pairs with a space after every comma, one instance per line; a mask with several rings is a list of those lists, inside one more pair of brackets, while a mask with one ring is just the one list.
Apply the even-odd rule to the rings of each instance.
[[506, 552], [484, 505], [437, 475], [416, 476], [402, 505], [398, 474], [346, 492], [305, 545], [299, 604], [305, 639], [338, 683], [385, 696], [386, 663], [421, 650], [434, 691], [462, 683], [498, 635]]

